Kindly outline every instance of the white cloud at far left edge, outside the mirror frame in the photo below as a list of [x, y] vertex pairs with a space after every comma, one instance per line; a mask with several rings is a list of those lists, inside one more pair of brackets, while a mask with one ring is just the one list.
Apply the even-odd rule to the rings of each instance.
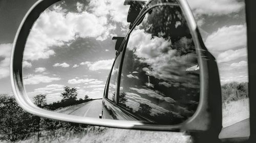
[[12, 44], [0, 44], [0, 58], [4, 60], [0, 61], [0, 79], [8, 77], [10, 75], [10, 56], [11, 56]]

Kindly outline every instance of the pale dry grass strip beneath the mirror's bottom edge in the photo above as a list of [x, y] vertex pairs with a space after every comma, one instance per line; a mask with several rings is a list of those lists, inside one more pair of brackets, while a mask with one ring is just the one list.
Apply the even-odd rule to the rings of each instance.
[[[102, 127], [101, 127], [102, 128]], [[54, 143], [68, 143], [68, 142], [172, 142], [172, 143], [188, 143], [192, 142], [190, 136], [184, 135], [179, 132], [156, 132], [156, 131], [140, 131], [140, 130], [127, 130], [127, 129], [114, 129], [105, 128], [102, 131], [98, 129], [89, 129], [86, 132], [80, 134], [72, 134], [66, 132], [61, 136], [48, 135], [40, 137], [39, 141], [36, 136], [27, 140], [16, 141], [19, 143], [30, 143], [30, 142], [54, 142]]]

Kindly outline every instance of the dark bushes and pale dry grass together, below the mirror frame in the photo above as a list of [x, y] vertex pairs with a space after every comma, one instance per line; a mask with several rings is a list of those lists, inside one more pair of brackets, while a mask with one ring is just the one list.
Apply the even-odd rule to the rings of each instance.
[[115, 129], [61, 122], [33, 116], [14, 97], [0, 95], [0, 142], [191, 142], [179, 132]]

